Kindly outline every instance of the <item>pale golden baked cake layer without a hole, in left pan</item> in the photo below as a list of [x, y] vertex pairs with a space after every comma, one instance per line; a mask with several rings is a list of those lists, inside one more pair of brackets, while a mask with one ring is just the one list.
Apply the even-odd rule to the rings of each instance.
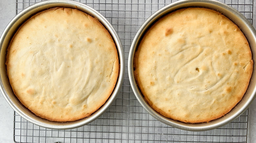
[[54, 121], [90, 116], [111, 95], [119, 72], [109, 32], [71, 8], [43, 11], [23, 24], [10, 43], [6, 65], [20, 102]]

